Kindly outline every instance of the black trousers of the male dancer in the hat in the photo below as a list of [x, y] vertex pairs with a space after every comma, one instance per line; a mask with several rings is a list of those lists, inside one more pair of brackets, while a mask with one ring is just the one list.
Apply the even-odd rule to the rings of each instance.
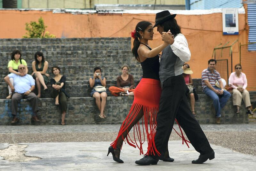
[[206, 154], [213, 151], [202, 128], [189, 109], [185, 95], [186, 87], [182, 75], [170, 77], [163, 83], [155, 136], [156, 149], [161, 156], [152, 156], [155, 159], [162, 159], [164, 156], [175, 118], [197, 152]]

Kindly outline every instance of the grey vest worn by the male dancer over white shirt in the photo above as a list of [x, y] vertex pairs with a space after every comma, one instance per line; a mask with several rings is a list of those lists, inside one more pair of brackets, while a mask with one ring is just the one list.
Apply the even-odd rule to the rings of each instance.
[[[176, 37], [176, 35], [174, 37]], [[182, 65], [184, 63], [185, 62], [180, 60], [180, 58], [173, 53], [170, 45], [166, 46], [162, 51], [160, 60], [159, 77], [161, 83], [172, 76], [183, 74]]]

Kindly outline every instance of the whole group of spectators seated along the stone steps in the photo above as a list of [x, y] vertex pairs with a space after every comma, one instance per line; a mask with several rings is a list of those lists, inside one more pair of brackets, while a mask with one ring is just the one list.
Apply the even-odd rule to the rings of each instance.
[[[12, 52], [11, 60], [8, 63], [8, 74], [4, 80], [8, 85], [9, 95], [7, 99], [11, 99], [12, 102], [12, 121], [11, 124], [15, 124], [19, 121], [17, 114], [18, 103], [20, 99], [28, 99], [32, 107], [32, 119], [35, 122], [40, 122], [37, 118], [38, 98], [41, 98], [42, 91], [50, 93], [54, 99], [54, 104], [59, 106], [61, 112], [61, 125], [65, 125], [65, 115], [68, 109], [69, 95], [66, 92], [66, 76], [61, 74], [59, 66], [52, 67], [53, 78], [49, 79], [50, 75], [47, 73], [48, 62], [44, 58], [42, 52], [36, 52], [34, 55], [35, 60], [32, 62], [33, 72], [28, 74], [28, 66], [24, 59], [21, 58], [21, 52], [15, 50]], [[52, 64], [51, 64], [52, 65]], [[210, 59], [208, 61], [208, 68], [202, 72], [202, 88], [203, 92], [212, 98], [213, 106], [216, 114], [216, 123], [220, 124], [220, 110], [223, 108], [230, 97], [230, 93], [224, 89], [224, 84], [220, 78], [220, 73], [215, 70], [217, 61]], [[193, 86], [191, 74], [193, 71], [190, 66], [185, 63], [183, 66], [183, 77], [187, 85], [186, 95], [190, 99], [191, 110], [194, 116], [195, 100], [198, 99], [196, 94], [196, 87]], [[124, 65], [121, 68], [122, 74], [116, 78], [116, 86], [110, 86], [109, 92], [113, 96], [134, 96], [135, 90], [134, 78], [129, 74], [129, 66]], [[48, 90], [47, 84], [50, 82], [52, 89]], [[89, 79], [89, 86], [92, 88], [90, 96], [95, 98], [95, 104], [99, 110], [97, 114], [99, 118], [105, 119], [106, 115], [104, 109], [107, 101], [107, 85], [106, 77], [102, 74], [100, 67], [93, 69], [93, 75]], [[228, 87], [229, 86], [229, 87]], [[230, 74], [228, 89], [233, 94], [233, 105], [236, 107], [235, 113], [240, 113], [241, 101], [245, 103], [247, 108], [247, 114], [253, 114], [250, 107], [250, 95], [246, 90], [247, 79], [244, 73], [242, 73], [242, 66], [237, 64], [235, 66], [235, 72]], [[33, 92], [37, 89], [37, 96]], [[35, 97], [36, 96], [36, 97]]]

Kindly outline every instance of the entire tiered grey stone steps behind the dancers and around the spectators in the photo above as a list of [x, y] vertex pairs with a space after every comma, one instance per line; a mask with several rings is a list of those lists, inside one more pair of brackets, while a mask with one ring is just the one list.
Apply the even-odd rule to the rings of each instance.
[[[100, 66], [102, 75], [107, 78], [107, 87], [115, 86], [116, 77], [121, 74], [120, 68], [126, 64], [137, 85], [142, 70], [140, 63], [132, 56], [130, 41], [130, 38], [0, 39], [0, 125], [8, 125], [12, 116], [11, 100], [5, 99], [8, 89], [4, 76], [8, 74], [7, 64], [15, 49], [21, 51], [22, 58], [28, 64], [29, 74], [32, 73], [31, 63], [35, 52], [42, 51], [45, 60], [49, 62], [47, 73], [53, 77], [52, 66], [59, 66], [61, 74], [67, 76], [66, 91], [71, 98], [68, 99], [66, 124], [121, 123], [130, 110], [133, 97], [113, 97], [107, 89], [107, 117], [100, 119], [95, 99], [90, 97], [92, 89], [88, 80], [93, 75], [93, 68]], [[201, 79], [193, 79], [193, 82], [199, 94], [195, 105], [196, 119], [199, 123], [215, 123], [212, 100], [203, 94]], [[47, 86], [51, 89], [50, 84]], [[38, 112], [41, 124], [60, 124], [61, 114], [58, 106], [54, 105], [54, 99], [50, 98], [49, 92], [42, 91], [41, 94]], [[232, 100], [228, 101], [222, 112], [221, 123], [248, 122], [245, 108], [241, 108], [241, 114], [235, 114]], [[19, 115], [19, 124], [31, 124], [31, 107], [27, 100], [21, 100]]]

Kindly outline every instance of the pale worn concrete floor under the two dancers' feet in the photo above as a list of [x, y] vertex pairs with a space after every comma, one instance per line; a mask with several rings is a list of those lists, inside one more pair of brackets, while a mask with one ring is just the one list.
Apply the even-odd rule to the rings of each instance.
[[[206, 161], [204, 164], [191, 164], [193, 159], [197, 159], [199, 153], [193, 147], [187, 148], [180, 141], [169, 141], [169, 148], [172, 151], [171, 157], [174, 162], [159, 161], [157, 165], [138, 166], [135, 160], [142, 158], [138, 149], [124, 144], [120, 158], [124, 160], [123, 164], [116, 163], [112, 155], [107, 157], [108, 146], [111, 142], [60, 142], [60, 143], [21, 143], [21, 147], [16, 150], [22, 150], [17, 161], [8, 159], [0, 160], [1, 171], [48, 171], [48, 170], [113, 170], [113, 171], [144, 171], [144, 170], [190, 170], [190, 171], [249, 171], [255, 169], [256, 157], [248, 154], [234, 152], [227, 148], [212, 145], [215, 151], [215, 159]], [[13, 144], [0, 144], [0, 153], [3, 149], [8, 151]], [[15, 146], [15, 144], [14, 144]], [[22, 147], [23, 146], [23, 147]], [[13, 152], [14, 149], [12, 149]], [[10, 153], [12, 153], [10, 152]], [[6, 158], [6, 156], [4, 156]], [[19, 161], [18, 161], [19, 160]], [[23, 161], [22, 161], [23, 160]]]

